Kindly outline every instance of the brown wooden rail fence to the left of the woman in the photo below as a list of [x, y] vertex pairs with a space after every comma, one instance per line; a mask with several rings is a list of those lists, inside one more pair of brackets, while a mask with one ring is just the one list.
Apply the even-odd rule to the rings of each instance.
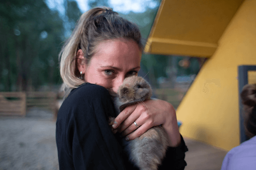
[[56, 112], [57, 94], [48, 92], [0, 92], [0, 115], [25, 116], [37, 107]]

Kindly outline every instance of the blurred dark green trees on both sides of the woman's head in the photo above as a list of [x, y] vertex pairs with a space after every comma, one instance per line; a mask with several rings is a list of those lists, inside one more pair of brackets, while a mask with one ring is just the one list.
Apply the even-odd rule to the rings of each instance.
[[[158, 6], [161, 0], [155, 0]], [[106, 0], [89, 0], [91, 8], [108, 6]], [[135, 22], [141, 31], [145, 44], [154, 18], [156, 8], [147, 8], [144, 13], [119, 13]], [[74, 0], [64, 3], [65, 15], [50, 9], [45, 0], [0, 1], [0, 91], [25, 91], [42, 85], [62, 83], [59, 75], [58, 54], [80, 15]], [[158, 77], [167, 77], [166, 69], [173, 64], [177, 75], [197, 74], [199, 65], [195, 58], [190, 59], [190, 67], [182, 68], [178, 62], [170, 63], [170, 56], [143, 54], [141, 69], [156, 86]]]

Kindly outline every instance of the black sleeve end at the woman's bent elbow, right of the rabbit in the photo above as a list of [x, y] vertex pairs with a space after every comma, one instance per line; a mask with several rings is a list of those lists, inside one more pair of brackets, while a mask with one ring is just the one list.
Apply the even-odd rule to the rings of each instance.
[[185, 166], [187, 166], [185, 152], [188, 151], [188, 148], [181, 135], [180, 138], [181, 143], [178, 147], [169, 147], [167, 149], [165, 158], [158, 170], [184, 170]]

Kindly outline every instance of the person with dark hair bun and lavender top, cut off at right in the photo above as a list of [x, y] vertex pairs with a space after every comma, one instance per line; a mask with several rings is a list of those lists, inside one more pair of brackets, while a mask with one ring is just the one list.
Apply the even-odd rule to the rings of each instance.
[[256, 84], [243, 87], [241, 100], [245, 110], [245, 132], [250, 139], [227, 153], [221, 170], [255, 170], [256, 167]]

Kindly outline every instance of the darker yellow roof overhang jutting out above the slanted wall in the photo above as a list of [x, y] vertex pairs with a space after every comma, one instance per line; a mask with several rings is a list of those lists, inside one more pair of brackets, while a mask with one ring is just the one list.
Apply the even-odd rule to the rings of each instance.
[[162, 0], [144, 51], [210, 57], [242, 0]]

